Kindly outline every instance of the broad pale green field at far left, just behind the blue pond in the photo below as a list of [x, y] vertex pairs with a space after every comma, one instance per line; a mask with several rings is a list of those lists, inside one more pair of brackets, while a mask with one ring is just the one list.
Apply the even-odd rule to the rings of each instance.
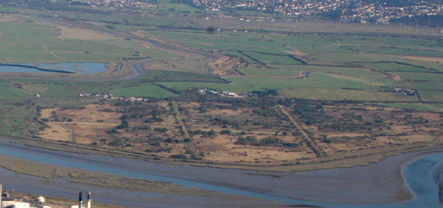
[[0, 62], [111, 62], [131, 57], [175, 57], [116, 37], [83, 39], [87, 30], [64, 38], [64, 28], [17, 21], [0, 22]]

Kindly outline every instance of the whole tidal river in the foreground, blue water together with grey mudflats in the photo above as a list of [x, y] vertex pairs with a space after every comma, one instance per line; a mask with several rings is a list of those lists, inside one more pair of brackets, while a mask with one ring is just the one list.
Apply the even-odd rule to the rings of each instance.
[[[172, 182], [186, 187], [219, 191], [236, 196], [249, 196], [276, 202], [325, 207], [352, 207], [354, 204], [377, 204], [365, 205], [365, 207], [437, 205], [438, 190], [431, 186], [433, 183], [432, 171], [437, 164], [440, 164], [438, 161], [443, 159], [443, 153], [437, 153], [420, 156], [418, 160], [408, 163], [404, 168], [404, 176], [406, 176], [409, 187], [415, 193], [415, 199], [402, 201], [393, 200], [393, 198], [400, 194], [408, 193], [408, 189], [403, 183], [396, 184], [395, 180], [399, 178], [398, 164], [403, 164], [405, 161], [410, 160], [408, 154], [394, 156], [383, 160], [383, 162], [365, 167], [305, 171], [300, 173], [270, 173], [177, 166], [160, 162], [113, 158], [104, 155], [82, 155], [37, 149], [22, 144], [10, 143], [7, 140], [0, 140], [0, 154], [44, 164], [80, 168], [100, 173], [112, 173], [130, 178]], [[413, 153], [413, 156], [419, 156], [419, 154]], [[423, 161], [434, 162], [428, 162], [426, 163], [427, 165], [423, 166], [421, 165]], [[393, 165], [397, 166], [397, 168], [390, 168]], [[35, 190], [41, 189], [42, 191], [37, 191], [37, 193], [71, 197], [75, 196], [75, 192], [78, 190], [89, 189], [96, 193], [97, 200], [116, 204], [122, 204], [124, 198], [132, 198], [132, 203], [137, 204], [134, 204], [134, 206], [147, 205], [146, 202], [155, 202], [159, 198], [170, 198], [179, 204], [181, 202], [188, 202], [187, 205], [190, 205], [190, 201], [199, 202], [200, 204], [197, 203], [197, 205], [201, 205], [201, 202], [208, 202], [210, 199], [217, 201], [215, 196], [179, 196], [177, 194], [140, 193], [136, 191], [124, 191], [122, 193], [118, 189], [88, 187], [66, 182], [62, 179], [48, 180], [10, 173], [5, 170], [2, 170], [0, 174], [6, 178], [15, 178], [14, 174], [16, 174], [18, 178], [21, 178], [20, 180], [14, 179], [12, 181], [15, 182], [8, 184], [8, 186], [13, 187], [12, 189], [17, 191], [35, 193]], [[266, 176], [270, 174], [273, 176]], [[395, 188], [393, 189], [392, 187]], [[436, 200], [435, 194], [437, 196]], [[110, 198], [114, 198], [114, 200]], [[136, 198], [138, 200], [135, 200]], [[340, 205], [334, 203], [339, 203]], [[186, 203], [182, 205], [186, 205]]]

